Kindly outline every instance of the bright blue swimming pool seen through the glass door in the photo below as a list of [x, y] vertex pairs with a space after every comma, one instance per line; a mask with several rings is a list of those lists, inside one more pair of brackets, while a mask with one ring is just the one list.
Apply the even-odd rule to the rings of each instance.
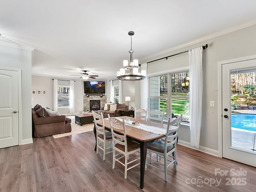
[[256, 132], [256, 114], [231, 114], [231, 127]]

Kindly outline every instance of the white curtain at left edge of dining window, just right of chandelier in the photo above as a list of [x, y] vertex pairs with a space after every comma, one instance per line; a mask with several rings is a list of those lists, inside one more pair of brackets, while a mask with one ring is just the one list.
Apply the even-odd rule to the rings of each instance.
[[148, 109], [148, 77], [147, 77], [147, 63], [140, 66], [140, 70], [146, 70], [146, 78], [140, 81], [140, 108]]

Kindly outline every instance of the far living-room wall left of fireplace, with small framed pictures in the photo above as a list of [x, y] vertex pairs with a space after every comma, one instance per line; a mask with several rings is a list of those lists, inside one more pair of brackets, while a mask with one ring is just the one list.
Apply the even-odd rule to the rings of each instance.
[[[46, 95], [32, 95], [32, 104], [34, 107], [36, 104], [42, 107], [53, 109], [53, 80], [70, 80], [57, 77], [35, 76], [32, 75], [32, 90], [46, 90]], [[58, 81], [58, 84], [69, 84], [69, 81]], [[75, 97], [75, 113], [80, 113], [84, 110], [84, 82], [83, 80], [75, 80], [74, 83], [74, 97]], [[58, 111], [61, 114], [69, 114], [68, 108], [59, 108]]]

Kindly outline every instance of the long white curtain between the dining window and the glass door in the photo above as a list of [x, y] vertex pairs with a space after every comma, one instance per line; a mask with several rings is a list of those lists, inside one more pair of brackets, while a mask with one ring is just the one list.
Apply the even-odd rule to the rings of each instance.
[[202, 53], [202, 47], [188, 51], [190, 84], [190, 144], [196, 148], [199, 148], [202, 122]]

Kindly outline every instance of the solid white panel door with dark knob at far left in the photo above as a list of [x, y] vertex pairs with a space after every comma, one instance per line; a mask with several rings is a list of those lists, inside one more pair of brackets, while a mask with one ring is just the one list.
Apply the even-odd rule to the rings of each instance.
[[19, 144], [18, 71], [0, 69], [0, 148]]

